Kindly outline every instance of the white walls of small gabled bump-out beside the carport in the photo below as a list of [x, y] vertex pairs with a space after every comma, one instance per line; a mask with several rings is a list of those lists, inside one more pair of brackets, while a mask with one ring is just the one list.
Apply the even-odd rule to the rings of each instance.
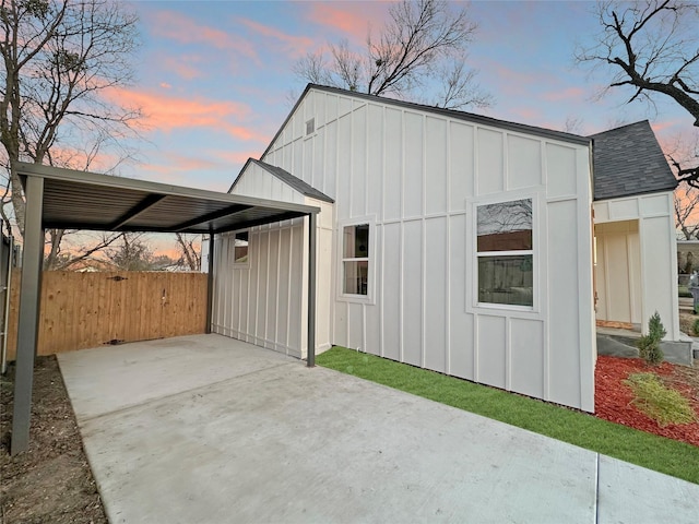
[[[316, 352], [330, 347], [333, 204], [309, 199], [252, 164], [234, 194], [321, 207], [317, 230]], [[248, 262], [234, 263], [235, 231], [215, 239], [212, 330], [306, 358], [308, 349], [308, 226], [296, 218], [253, 227]]]

